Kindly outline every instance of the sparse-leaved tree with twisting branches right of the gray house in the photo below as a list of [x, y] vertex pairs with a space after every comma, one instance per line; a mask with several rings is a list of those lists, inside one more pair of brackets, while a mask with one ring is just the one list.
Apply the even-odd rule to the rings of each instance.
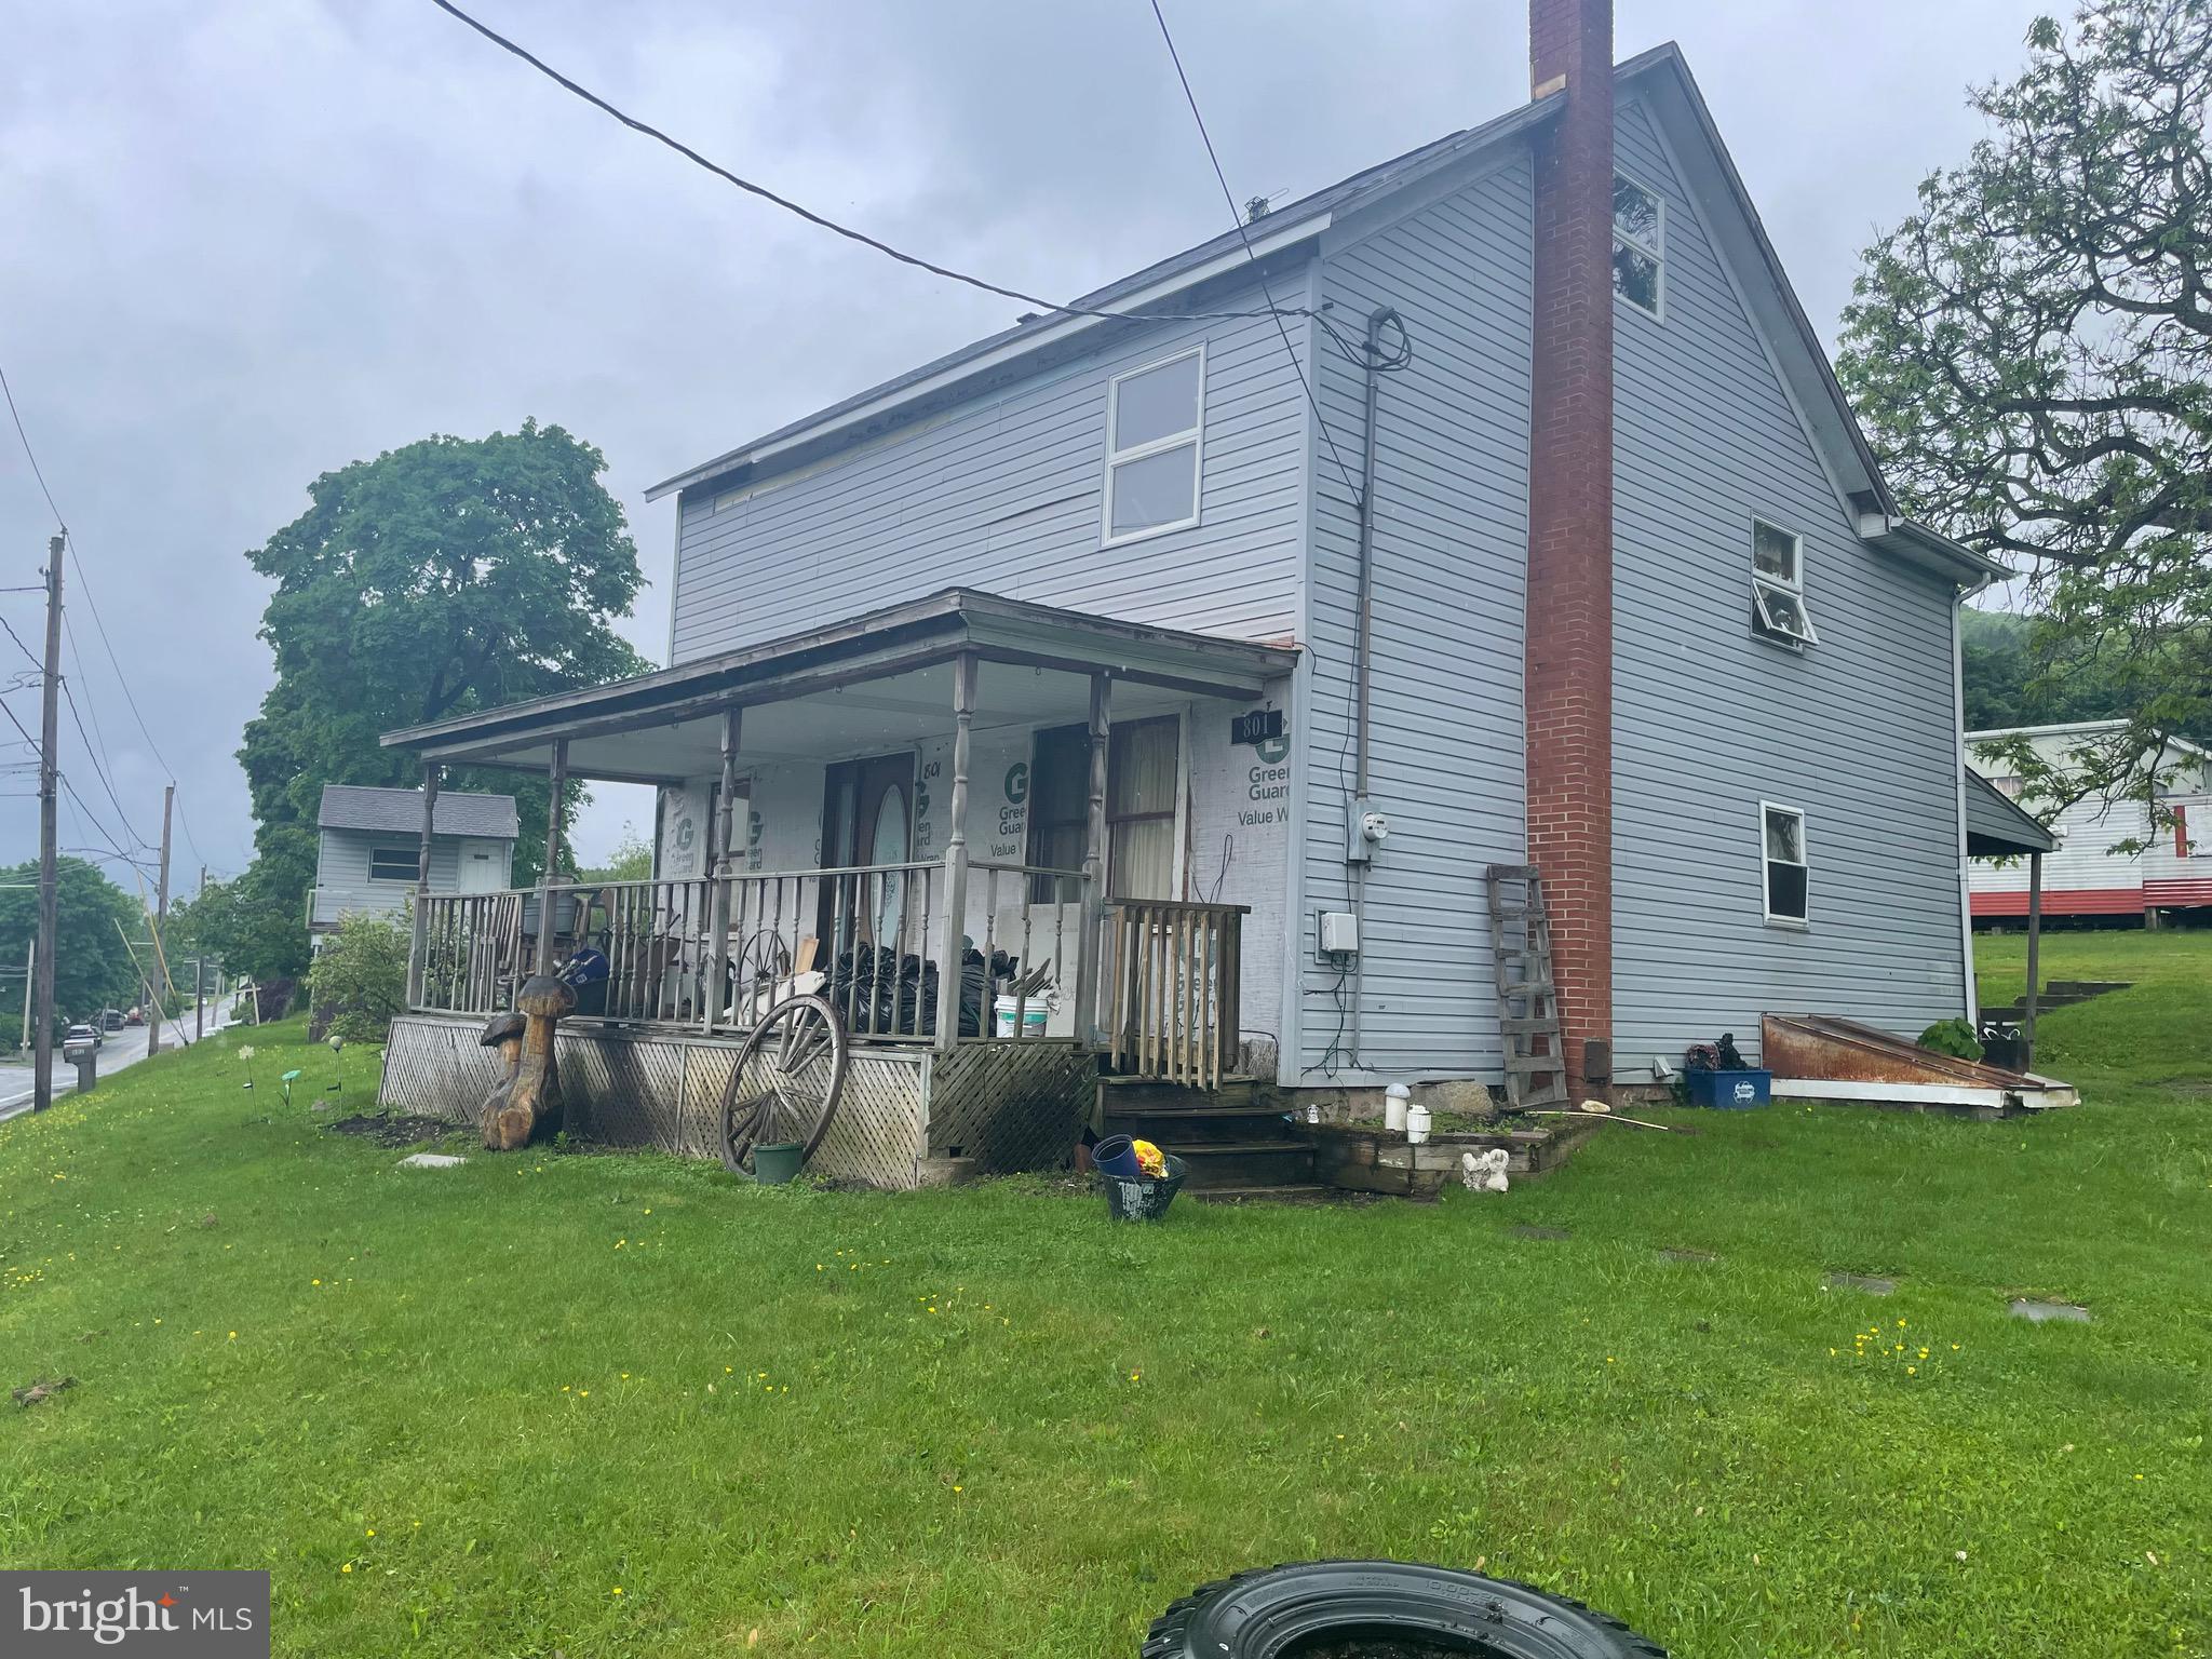
[[2024, 566], [2022, 695], [2128, 728], [2028, 799], [2135, 794], [2212, 734], [2212, 0], [2088, 0], [1971, 93], [1989, 137], [1867, 250], [1838, 374], [1907, 507]]

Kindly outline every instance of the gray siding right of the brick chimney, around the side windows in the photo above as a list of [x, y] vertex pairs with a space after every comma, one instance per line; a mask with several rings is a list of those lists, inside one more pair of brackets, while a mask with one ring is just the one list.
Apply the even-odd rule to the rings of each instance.
[[[1641, 106], [1666, 321], [1615, 319], [1617, 1075], [1763, 1011], [1918, 1035], [1964, 1011], [1951, 588], [1865, 546]], [[1820, 644], [1752, 635], [1750, 522], [1803, 538]], [[1763, 918], [1759, 801], [1801, 807], [1812, 927]]]

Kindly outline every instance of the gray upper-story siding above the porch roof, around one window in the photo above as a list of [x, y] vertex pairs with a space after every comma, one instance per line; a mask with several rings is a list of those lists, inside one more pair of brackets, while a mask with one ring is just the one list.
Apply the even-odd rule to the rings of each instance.
[[[1208, 310], [1261, 303], [1254, 288]], [[1102, 549], [1106, 385], [1199, 341], [1201, 522]], [[1301, 469], [1298, 380], [1272, 321], [1126, 334], [818, 471], [750, 495], [686, 498], [672, 661], [947, 586], [1199, 633], [1287, 637], [1298, 608]]]

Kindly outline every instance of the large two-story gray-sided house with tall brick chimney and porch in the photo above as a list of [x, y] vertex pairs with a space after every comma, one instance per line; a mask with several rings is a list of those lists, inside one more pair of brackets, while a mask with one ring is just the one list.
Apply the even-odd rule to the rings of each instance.
[[1022, 319], [670, 478], [670, 668], [385, 741], [659, 783], [657, 874], [739, 872], [774, 960], [1121, 900], [1062, 987], [1188, 1026], [1197, 960], [1285, 1088], [1504, 1075], [1493, 865], [1544, 874], [1577, 1091], [1765, 1011], [1971, 1015], [1997, 566], [1900, 518], [1681, 51], [1608, 29], [1533, 7], [1531, 104], [1077, 301], [1159, 316]]

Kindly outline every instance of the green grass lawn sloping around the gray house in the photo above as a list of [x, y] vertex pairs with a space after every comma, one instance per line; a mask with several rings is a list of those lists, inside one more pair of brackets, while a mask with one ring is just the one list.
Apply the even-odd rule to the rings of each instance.
[[0, 1405], [0, 1562], [265, 1566], [319, 1657], [1135, 1655], [1325, 1555], [1681, 1655], [2205, 1655], [2212, 933], [2044, 962], [2139, 982], [2044, 1024], [2075, 1113], [1683, 1113], [1504, 1199], [1150, 1230], [1042, 1183], [398, 1170], [307, 1108], [374, 1051], [263, 1033], [246, 1093], [210, 1042], [0, 1126], [7, 1383], [80, 1378]]

